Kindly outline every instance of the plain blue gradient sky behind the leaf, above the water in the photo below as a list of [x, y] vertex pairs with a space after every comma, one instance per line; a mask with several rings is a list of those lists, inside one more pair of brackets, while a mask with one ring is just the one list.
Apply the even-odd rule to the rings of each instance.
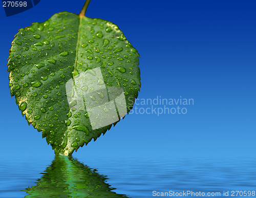
[[[10, 17], [0, 9], [3, 156], [54, 156], [10, 96], [6, 64], [13, 36], [56, 12], [78, 14], [83, 3], [41, 0]], [[254, 0], [92, 0], [87, 16], [113, 21], [140, 53], [139, 99], [182, 96], [194, 105], [186, 115], [126, 116], [74, 156], [255, 158], [255, 10]]]

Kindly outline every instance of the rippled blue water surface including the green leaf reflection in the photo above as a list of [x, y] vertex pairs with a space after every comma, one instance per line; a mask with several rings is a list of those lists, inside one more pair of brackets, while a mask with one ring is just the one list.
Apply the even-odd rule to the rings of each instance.
[[254, 159], [1, 159], [0, 197], [156, 197], [256, 190]]

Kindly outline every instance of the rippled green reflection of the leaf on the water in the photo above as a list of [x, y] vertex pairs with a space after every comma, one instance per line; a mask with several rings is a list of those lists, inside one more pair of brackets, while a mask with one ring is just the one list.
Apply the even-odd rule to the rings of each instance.
[[113, 192], [105, 176], [71, 156], [55, 156], [41, 174], [36, 186], [23, 190], [25, 197], [127, 197]]

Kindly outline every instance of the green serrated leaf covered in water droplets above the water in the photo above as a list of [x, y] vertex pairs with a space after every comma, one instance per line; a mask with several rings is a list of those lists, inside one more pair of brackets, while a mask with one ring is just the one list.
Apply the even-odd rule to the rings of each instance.
[[138, 65], [117, 25], [60, 12], [15, 35], [11, 96], [56, 155], [67, 156], [129, 113], [141, 85]]

